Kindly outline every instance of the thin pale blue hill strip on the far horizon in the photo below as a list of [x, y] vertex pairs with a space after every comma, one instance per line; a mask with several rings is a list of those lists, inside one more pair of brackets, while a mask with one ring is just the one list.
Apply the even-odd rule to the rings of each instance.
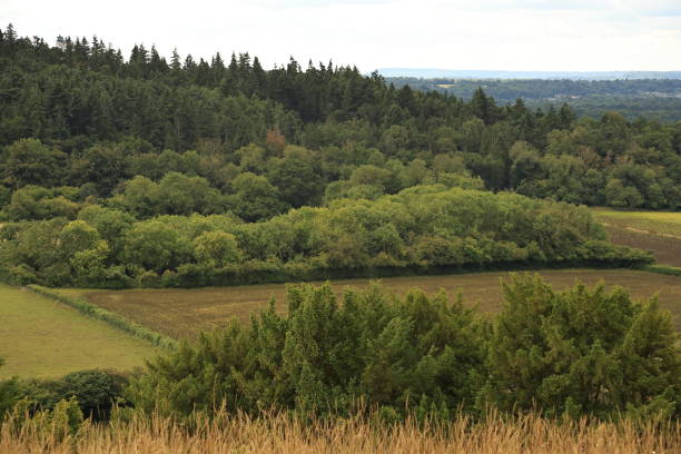
[[462, 70], [437, 68], [382, 68], [384, 77], [416, 77], [424, 79], [572, 79], [572, 80], [618, 80], [618, 79], [681, 79], [681, 71], [503, 71]]

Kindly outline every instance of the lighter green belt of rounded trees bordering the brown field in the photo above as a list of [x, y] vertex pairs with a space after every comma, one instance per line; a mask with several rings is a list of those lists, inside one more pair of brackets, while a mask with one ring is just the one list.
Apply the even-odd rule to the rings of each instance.
[[[167, 179], [193, 185], [191, 178], [169, 176], [159, 186], [139, 178], [140, 185], [127, 186], [108, 206], [85, 203], [73, 220], [58, 216], [4, 225], [0, 272], [16, 284], [190, 287], [652, 260], [647, 253], [608, 243], [584, 207], [443, 185], [414, 186], [375, 200], [334, 199], [259, 223], [231, 214], [126, 210], [127, 204], [155, 207], [145, 200], [167, 194], [158, 191]], [[209, 190], [195, 194], [219, 198]], [[184, 196], [193, 197], [190, 191], [178, 197]]]

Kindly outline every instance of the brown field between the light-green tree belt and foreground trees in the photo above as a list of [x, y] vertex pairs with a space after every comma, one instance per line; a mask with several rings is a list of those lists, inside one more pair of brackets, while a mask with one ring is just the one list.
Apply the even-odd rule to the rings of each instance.
[[[541, 272], [556, 289], [581, 280], [594, 285], [605, 280], [608, 285], [621, 285], [635, 298], [648, 298], [659, 293], [662, 307], [673, 314], [677, 329], [681, 329], [681, 278], [629, 269], [568, 269]], [[482, 312], [499, 310], [502, 299], [500, 279], [507, 273], [477, 273], [448, 276], [394, 277], [382, 279], [385, 288], [404, 294], [421, 287], [433, 294], [444, 288], [450, 296], [463, 290], [464, 302], [477, 304]], [[366, 287], [367, 279], [334, 282], [334, 288]], [[284, 310], [285, 286], [280, 284], [199, 289], [134, 289], [134, 290], [77, 290], [62, 289], [71, 296], [85, 296], [90, 303], [117, 312], [150, 329], [175, 338], [194, 338], [201, 330], [224, 326], [231, 317], [248, 320], [250, 314], [264, 307], [274, 296], [277, 308]]]

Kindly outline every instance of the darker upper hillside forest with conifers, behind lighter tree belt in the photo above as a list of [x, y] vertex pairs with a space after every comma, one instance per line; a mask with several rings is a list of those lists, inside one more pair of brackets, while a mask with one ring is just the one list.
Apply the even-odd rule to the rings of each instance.
[[138, 176], [160, 185], [171, 171], [205, 178], [231, 198], [226, 207], [245, 207], [234, 200], [246, 188], [270, 194], [265, 206], [236, 213], [246, 220], [438, 178], [470, 187], [474, 177], [494, 191], [575, 204], [681, 204], [679, 122], [613, 112], [578, 120], [566, 105], [500, 106], [482, 89], [464, 101], [330, 62], [303, 70], [292, 59], [264, 70], [248, 53], [228, 60], [174, 52], [167, 61], [141, 45], [125, 59], [97, 38], [50, 47], [8, 27], [0, 36], [0, 206], [7, 211], [17, 190], [40, 186], [68, 209], [67, 201], [101, 201], [141, 185]]

